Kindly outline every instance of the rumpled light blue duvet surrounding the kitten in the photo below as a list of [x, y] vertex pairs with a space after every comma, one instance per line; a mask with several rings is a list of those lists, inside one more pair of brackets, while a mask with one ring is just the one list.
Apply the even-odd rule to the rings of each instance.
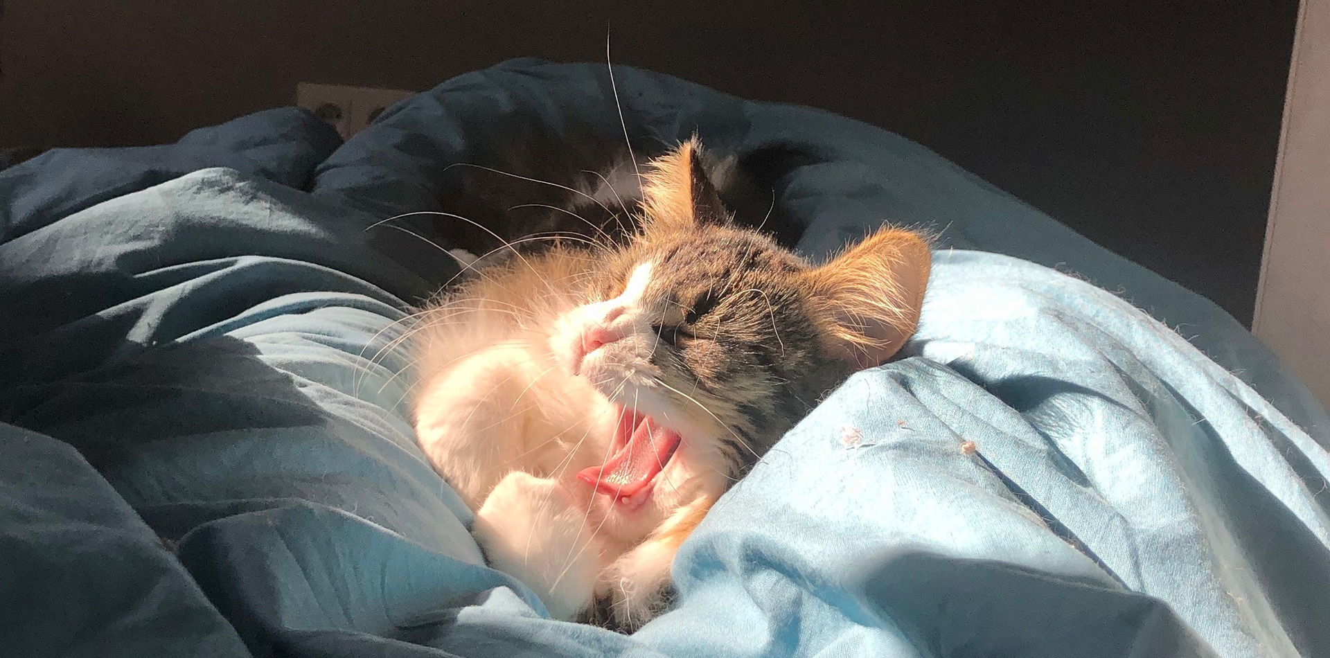
[[344, 145], [279, 109], [0, 171], [0, 654], [1330, 655], [1330, 420], [1237, 322], [900, 137], [616, 73], [634, 138], [827, 154], [777, 189], [807, 254], [943, 242], [906, 358], [717, 504], [669, 613], [545, 618], [404, 415], [456, 270], [366, 229], [505, 132], [620, 130], [602, 66], [521, 60]]

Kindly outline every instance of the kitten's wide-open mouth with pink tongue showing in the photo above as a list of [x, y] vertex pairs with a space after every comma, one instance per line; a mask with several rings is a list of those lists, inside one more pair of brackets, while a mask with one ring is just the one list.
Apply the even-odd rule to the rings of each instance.
[[617, 502], [638, 506], [650, 494], [650, 484], [678, 449], [678, 432], [665, 428], [636, 409], [620, 408], [618, 427], [610, 443], [613, 453], [598, 465], [585, 468], [577, 479], [597, 493]]

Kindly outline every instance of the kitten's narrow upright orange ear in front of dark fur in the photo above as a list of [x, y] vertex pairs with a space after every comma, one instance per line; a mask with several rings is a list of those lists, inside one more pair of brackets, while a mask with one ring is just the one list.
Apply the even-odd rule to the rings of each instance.
[[720, 191], [706, 177], [697, 137], [652, 161], [644, 179], [642, 206], [648, 227], [689, 229], [730, 221]]

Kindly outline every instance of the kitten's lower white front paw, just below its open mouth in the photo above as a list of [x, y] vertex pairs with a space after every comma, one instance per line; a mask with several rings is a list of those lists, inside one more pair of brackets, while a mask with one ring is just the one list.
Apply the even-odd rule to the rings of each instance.
[[551, 617], [591, 605], [600, 546], [563, 484], [513, 471], [476, 512], [472, 529], [491, 565], [536, 592]]

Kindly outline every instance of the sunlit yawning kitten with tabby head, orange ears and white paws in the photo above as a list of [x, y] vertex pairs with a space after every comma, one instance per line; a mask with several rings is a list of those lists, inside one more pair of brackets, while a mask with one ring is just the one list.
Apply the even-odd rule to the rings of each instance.
[[427, 311], [414, 409], [491, 565], [626, 630], [726, 488], [914, 332], [930, 266], [896, 229], [810, 265], [733, 221], [696, 140], [641, 179], [622, 234], [476, 263]]

